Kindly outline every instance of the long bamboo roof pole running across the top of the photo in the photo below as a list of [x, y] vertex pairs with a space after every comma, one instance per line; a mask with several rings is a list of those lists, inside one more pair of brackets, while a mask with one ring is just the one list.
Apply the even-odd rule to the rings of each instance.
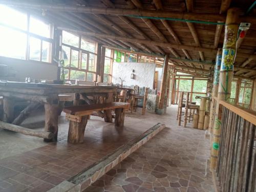
[[[136, 0], [135, 0], [136, 1]], [[132, 1], [134, 3], [134, 0]], [[46, 3], [31, 3], [31, 1], [13, 1], [13, 0], [0, 0], [0, 4], [5, 4], [15, 7], [44, 9], [53, 11], [68, 11], [68, 12], [80, 12], [90, 14], [104, 14], [104, 15], [134, 15], [145, 17], [167, 17], [178, 19], [190, 19], [190, 20], [203, 20], [214, 21], [225, 20], [224, 14], [211, 14], [211, 13], [179, 13], [170, 11], [152, 11], [143, 9], [125, 9], [125, 8], [102, 8], [102, 7], [87, 7], [87, 6], [72, 6], [61, 4], [46, 4]], [[247, 22], [255, 21], [253, 17], [246, 17], [249, 20]]]

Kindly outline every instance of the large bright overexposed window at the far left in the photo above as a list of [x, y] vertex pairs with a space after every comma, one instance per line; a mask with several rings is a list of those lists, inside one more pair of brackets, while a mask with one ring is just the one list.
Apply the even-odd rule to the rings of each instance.
[[52, 25], [0, 5], [0, 56], [51, 62]]

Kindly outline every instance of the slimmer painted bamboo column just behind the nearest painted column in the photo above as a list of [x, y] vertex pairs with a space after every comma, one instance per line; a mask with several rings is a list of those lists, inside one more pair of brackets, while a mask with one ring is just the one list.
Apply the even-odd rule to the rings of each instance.
[[221, 56], [222, 56], [222, 49], [219, 48], [216, 56], [216, 65], [214, 70], [214, 86], [212, 87], [212, 92], [211, 92], [210, 123], [209, 123], [210, 133], [212, 133], [212, 126], [214, 125], [214, 119], [215, 119], [214, 117], [215, 117], [216, 101], [214, 100], [214, 98], [218, 96]]

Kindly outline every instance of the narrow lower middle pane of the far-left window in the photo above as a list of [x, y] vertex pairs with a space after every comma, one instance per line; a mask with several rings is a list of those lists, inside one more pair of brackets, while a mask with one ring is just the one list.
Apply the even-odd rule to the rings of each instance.
[[38, 38], [29, 38], [29, 59], [40, 60], [41, 40]]

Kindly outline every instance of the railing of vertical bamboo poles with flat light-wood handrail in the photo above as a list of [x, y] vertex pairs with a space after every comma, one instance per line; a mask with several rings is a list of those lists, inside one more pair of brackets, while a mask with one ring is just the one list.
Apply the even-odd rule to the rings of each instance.
[[[221, 191], [256, 191], [256, 112], [220, 101], [216, 173]], [[214, 170], [213, 170], [214, 171]]]

